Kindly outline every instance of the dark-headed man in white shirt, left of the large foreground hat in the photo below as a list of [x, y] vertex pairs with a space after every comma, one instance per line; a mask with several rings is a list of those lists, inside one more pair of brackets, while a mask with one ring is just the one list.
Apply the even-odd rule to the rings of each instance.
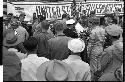
[[36, 71], [37, 68], [44, 62], [49, 61], [45, 57], [37, 56], [38, 42], [35, 37], [29, 37], [23, 43], [27, 50], [27, 58], [22, 59], [21, 77], [23, 81], [37, 81]]

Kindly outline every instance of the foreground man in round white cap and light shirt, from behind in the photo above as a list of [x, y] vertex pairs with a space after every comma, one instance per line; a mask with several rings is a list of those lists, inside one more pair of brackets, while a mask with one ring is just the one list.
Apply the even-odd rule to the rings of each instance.
[[80, 53], [85, 48], [84, 41], [80, 38], [72, 39], [68, 41], [68, 48], [71, 54], [63, 62], [67, 63], [73, 69], [76, 81], [91, 81], [90, 66], [88, 63], [82, 61], [80, 57]]

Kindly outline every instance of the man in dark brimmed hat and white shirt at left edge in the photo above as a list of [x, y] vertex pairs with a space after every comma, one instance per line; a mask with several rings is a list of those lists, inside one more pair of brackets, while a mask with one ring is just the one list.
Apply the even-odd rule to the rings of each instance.
[[19, 44], [22, 42], [21, 37], [16, 35], [16, 32], [13, 31], [8, 33], [3, 40], [3, 46], [5, 46], [8, 51], [14, 52], [20, 60], [24, 59], [27, 55], [19, 52]]

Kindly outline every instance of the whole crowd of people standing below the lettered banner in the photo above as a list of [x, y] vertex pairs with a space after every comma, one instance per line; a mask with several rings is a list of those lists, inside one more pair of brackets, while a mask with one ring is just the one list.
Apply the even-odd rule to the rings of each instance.
[[123, 81], [123, 19], [116, 14], [47, 21], [34, 13], [32, 29], [25, 16], [3, 22], [4, 81]]

